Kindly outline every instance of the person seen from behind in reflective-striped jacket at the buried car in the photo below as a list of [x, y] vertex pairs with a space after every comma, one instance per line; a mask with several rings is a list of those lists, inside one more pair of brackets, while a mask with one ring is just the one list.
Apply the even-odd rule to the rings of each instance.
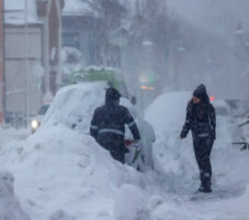
[[127, 108], [120, 106], [120, 92], [109, 88], [105, 94], [105, 105], [95, 109], [90, 128], [90, 134], [112, 157], [124, 163], [127, 148], [124, 145], [125, 124], [129, 128], [134, 140], [138, 142], [140, 134]]

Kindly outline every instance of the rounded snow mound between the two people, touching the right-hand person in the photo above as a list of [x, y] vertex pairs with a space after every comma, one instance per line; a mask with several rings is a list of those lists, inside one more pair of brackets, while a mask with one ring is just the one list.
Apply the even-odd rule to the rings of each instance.
[[165, 170], [173, 174], [171, 177], [174, 190], [179, 194], [190, 193], [193, 178], [197, 179], [195, 162], [191, 160], [194, 156], [191, 140], [188, 138], [181, 142], [179, 138], [190, 98], [191, 92], [165, 94], [158, 97], [145, 113], [145, 119], [154, 125], [157, 134], [154, 154]]

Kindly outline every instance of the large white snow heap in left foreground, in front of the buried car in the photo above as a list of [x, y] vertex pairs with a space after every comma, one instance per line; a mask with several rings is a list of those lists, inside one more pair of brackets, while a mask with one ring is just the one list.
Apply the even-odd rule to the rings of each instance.
[[[148, 199], [143, 185], [151, 182], [112, 160], [89, 135], [63, 124], [43, 129], [25, 142], [5, 145], [0, 151], [0, 166], [15, 176], [16, 193], [34, 220], [113, 219], [114, 196], [118, 201], [124, 184], [136, 186], [137, 196], [135, 189], [126, 196], [140, 202], [140, 195]], [[133, 212], [133, 220], [140, 212], [147, 213], [146, 202], [129, 207], [127, 201], [124, 206]], [[114, 211], [123, 218], [120, 206]]]

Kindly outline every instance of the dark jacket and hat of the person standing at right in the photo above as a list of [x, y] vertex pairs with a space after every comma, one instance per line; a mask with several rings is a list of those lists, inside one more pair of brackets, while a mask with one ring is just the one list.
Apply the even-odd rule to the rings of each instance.
[[193, 138], [216, 139], [216, 116], [215, 109], [210, 102], [206, 89], [203, 85], [195, 89], [193, 96], [201, 99], [200, 103], [189, 101], [186, 118], [183, 125], [181, 138], [185, 138], [192, 131]]

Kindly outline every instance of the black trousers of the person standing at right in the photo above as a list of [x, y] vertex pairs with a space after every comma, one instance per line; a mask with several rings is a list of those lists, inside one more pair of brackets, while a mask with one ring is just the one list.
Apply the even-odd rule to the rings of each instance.
[[203, 187], [211, 187], [211, 152], [213, 144], [214, 141], [210, 138], [193, 138], [194, 153], [197, 161], [200, 178]]

